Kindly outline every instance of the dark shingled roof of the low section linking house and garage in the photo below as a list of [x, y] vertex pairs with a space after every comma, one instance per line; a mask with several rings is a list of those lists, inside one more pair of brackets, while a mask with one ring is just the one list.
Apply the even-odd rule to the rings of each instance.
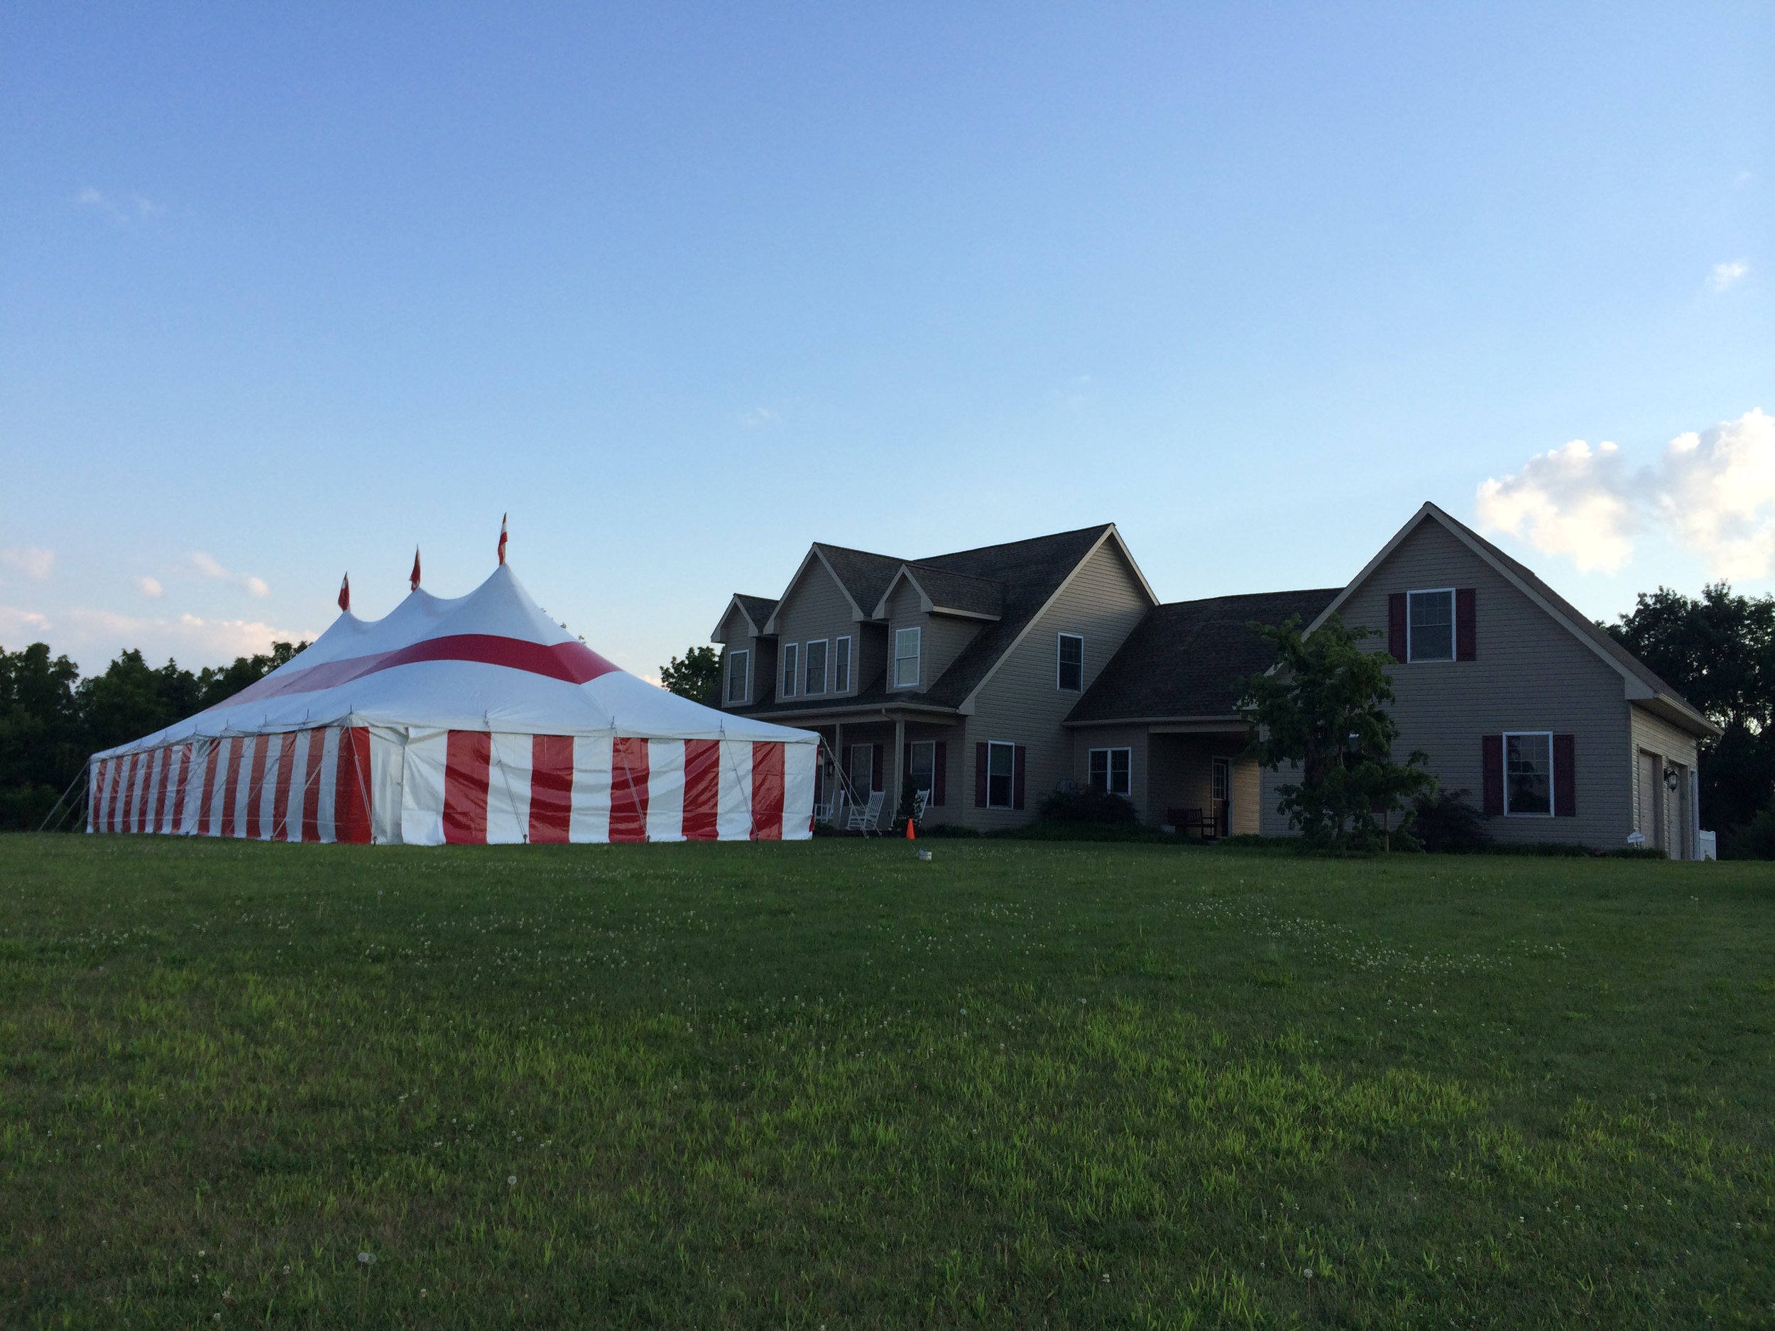
[[1298, 614], [1305, 626], [1340, 591], [1266, 591], [1156, 605], [1067, 721], [1230, 717], [1239, 710], [1234, 681], [1276, 664], [1276, 650], [1250, 625], [1280, 625]]

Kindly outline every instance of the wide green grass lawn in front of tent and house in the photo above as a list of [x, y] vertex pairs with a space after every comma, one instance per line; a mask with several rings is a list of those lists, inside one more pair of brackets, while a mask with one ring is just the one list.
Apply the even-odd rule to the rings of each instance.
[[1775, 1324], [1766, 866], [925, 845], [0, 838], [0, 1326]]

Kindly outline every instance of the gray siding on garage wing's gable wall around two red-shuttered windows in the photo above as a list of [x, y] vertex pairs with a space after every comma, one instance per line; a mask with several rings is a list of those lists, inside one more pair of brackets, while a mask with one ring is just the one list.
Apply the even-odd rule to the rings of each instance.
[[[1574, 818], [1493, 818], [1498, 841], [1622, 845], [1633, 818], [1628, 701], [1621, 674], [1569, 628], [1530, 602], [1434, 520], [1424, 520], [1344, 602], [1349, 625], [1381, 632], [1363, 646], [1386, 651], [1388, 595], [1434, 587], [1477, 593], [1477, 660], [1393, 666], [1395, 756], [1429, 754], [1445, 790], [1464, 790], [1482, 807], [1484, 735], [1555, 731], [1576, 736]], [[1264, 774], [1264, 832], [1283, 834], [1274, 784]]]

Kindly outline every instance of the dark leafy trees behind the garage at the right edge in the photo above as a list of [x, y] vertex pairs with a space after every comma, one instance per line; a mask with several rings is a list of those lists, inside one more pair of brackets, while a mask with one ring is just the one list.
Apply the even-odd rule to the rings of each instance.
[[1700, 747], [1700, 818], [1722, 832], [1775, 800], [1775, 596], [1715, 582], [1690, 598], [1640, 593], [1633, 614], [1605, 625], [1724, 735]]

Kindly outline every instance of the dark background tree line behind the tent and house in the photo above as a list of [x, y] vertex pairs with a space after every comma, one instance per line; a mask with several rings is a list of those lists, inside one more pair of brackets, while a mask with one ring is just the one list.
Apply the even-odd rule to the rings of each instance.
[[[1605, 628], [1725, 733], [1700, 751], [1700, 818], [1722, 855], [1775, 857], [1775, 596], [1713, 584], [1697, 598], [1660, 587]], [[87, 754], [202, 712], [291, 660], [304, 646], [192, 673], [122, 651], [85, 680], [43, 642], [0, 648], [0, 829], [36, 829]], [[660, 667], [674, 694], [708, 701], [719, 671], [692, 646]]]

